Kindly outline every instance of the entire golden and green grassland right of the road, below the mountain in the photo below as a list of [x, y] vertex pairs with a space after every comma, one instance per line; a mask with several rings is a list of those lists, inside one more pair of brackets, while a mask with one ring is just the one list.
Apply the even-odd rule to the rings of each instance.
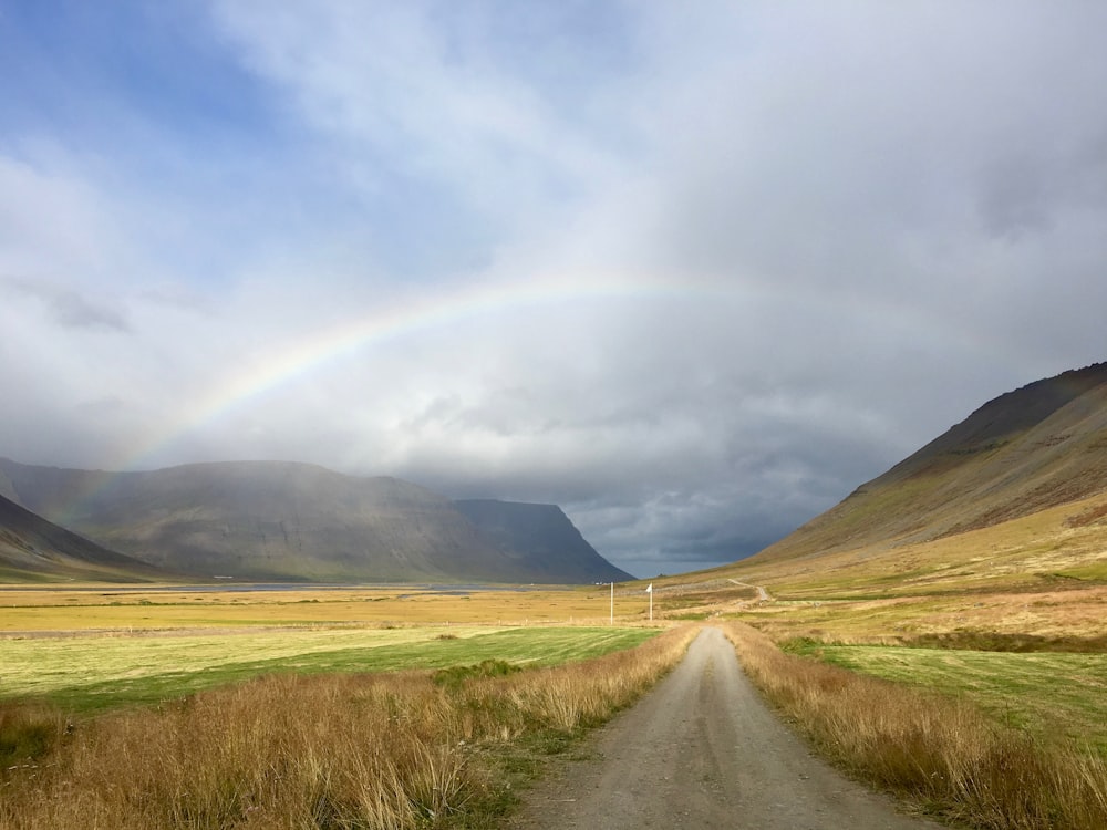
[[755, 683], [851, 775], [958, 826], [1099, 830], [1103, 516], [1098, 497], [925, 544], [738, 562], [654, 598], [734, 626]]

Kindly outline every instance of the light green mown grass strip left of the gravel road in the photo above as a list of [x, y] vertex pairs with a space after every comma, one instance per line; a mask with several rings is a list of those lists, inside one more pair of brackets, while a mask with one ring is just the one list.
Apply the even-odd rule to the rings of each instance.
[[92, 713], [156, 704], [273, 672], [445, 668], [488, 660], [555, 665], [629, 649], [655, 633], [453, 626], [0, 640], [0, 699], [42, 699]]

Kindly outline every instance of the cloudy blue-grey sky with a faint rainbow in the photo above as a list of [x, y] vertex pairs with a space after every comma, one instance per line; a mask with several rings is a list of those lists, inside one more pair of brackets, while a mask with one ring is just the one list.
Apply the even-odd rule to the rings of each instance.
[[0, 455], [737, 559], [1107, 359], [1107, 4], [2, 0]]

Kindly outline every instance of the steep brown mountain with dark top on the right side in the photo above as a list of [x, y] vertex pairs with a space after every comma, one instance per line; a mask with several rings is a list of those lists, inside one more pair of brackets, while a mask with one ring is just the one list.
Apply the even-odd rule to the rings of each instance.
[[1107, 494], [1107, 363], [989, 401], [746, 562], [875, 554], [1100, 494]]

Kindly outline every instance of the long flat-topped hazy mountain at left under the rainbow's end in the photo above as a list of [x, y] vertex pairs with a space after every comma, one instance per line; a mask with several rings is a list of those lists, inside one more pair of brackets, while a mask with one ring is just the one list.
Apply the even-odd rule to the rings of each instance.
[[308, 464], [145, 473], [0, 459], [0, 487], [105, 547], [199, 577], [275, 581], [589, 581], [478, 530], [444, 496]]

